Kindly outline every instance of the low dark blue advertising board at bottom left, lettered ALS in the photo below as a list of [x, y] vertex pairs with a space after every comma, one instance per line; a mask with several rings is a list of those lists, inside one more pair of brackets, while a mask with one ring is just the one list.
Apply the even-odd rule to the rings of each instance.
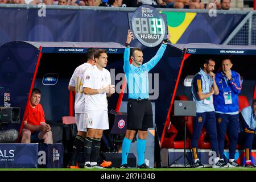
[[1, 143], [0, 168], [61, 168], [63, 145]]

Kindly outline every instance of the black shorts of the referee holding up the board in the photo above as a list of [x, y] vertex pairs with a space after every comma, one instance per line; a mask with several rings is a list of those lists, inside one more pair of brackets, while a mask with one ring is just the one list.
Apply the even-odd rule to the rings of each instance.
[[127, 103], [127, 129], [147, 131], [153, 125], [153, 112], [150, 100], [131, 100]]

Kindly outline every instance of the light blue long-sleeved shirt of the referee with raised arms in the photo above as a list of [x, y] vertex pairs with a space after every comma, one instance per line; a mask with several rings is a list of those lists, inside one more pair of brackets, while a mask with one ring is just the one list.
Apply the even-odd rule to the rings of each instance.
[[124, 64], [123, 71], [129, 88], [128, 98], [148, 98], [148, 72], [154, 68], [158, 61], [162, 58], [164, 51], [166, 50], [166, 44], [162, 44], [158, 49], [158, 52], [150, 61], [142, 64], [140, 67], [135, 67], [130, 64], [130, 47], [125, 48], [123, 54]]

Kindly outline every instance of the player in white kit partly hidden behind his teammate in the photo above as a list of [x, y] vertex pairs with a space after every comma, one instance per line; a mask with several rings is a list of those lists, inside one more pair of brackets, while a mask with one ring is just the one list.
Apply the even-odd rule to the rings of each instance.
[[71, 80], [68, 84], [68, 90], [76, 92], [75, 97], [75, 118], [77, 126], [77, 136], [73, 142], [73, 149], [71, 160], [68, 164], [68, 168], [79, 168], [77, 166], [77, 156], [82, 151], [84, 147], [84, 139], [86, 137], [86, 127], [85, 126], [85, 116], [84, 116], [84, 104], [85, 104], [85, 94], [82, 84], [84, 83], [84, 73], [85, 71], [95, 65], [94, 60], [94, 48], [89, 48], [86, 52], [87, 61], [84, 64], [81, 64], [77, 67], [71, 77]]

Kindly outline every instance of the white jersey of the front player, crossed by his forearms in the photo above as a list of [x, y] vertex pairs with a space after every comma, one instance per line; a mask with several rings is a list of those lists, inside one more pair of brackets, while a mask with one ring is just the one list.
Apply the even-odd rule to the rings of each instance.
[[[101, 71], [94, 65], [84, 73], [84, 86], [91, 89], [103, 89], [111, 84], [110, 72]], [[106, 93], [85, 95], [85, 113], [91, 110], [108, 110]]]

